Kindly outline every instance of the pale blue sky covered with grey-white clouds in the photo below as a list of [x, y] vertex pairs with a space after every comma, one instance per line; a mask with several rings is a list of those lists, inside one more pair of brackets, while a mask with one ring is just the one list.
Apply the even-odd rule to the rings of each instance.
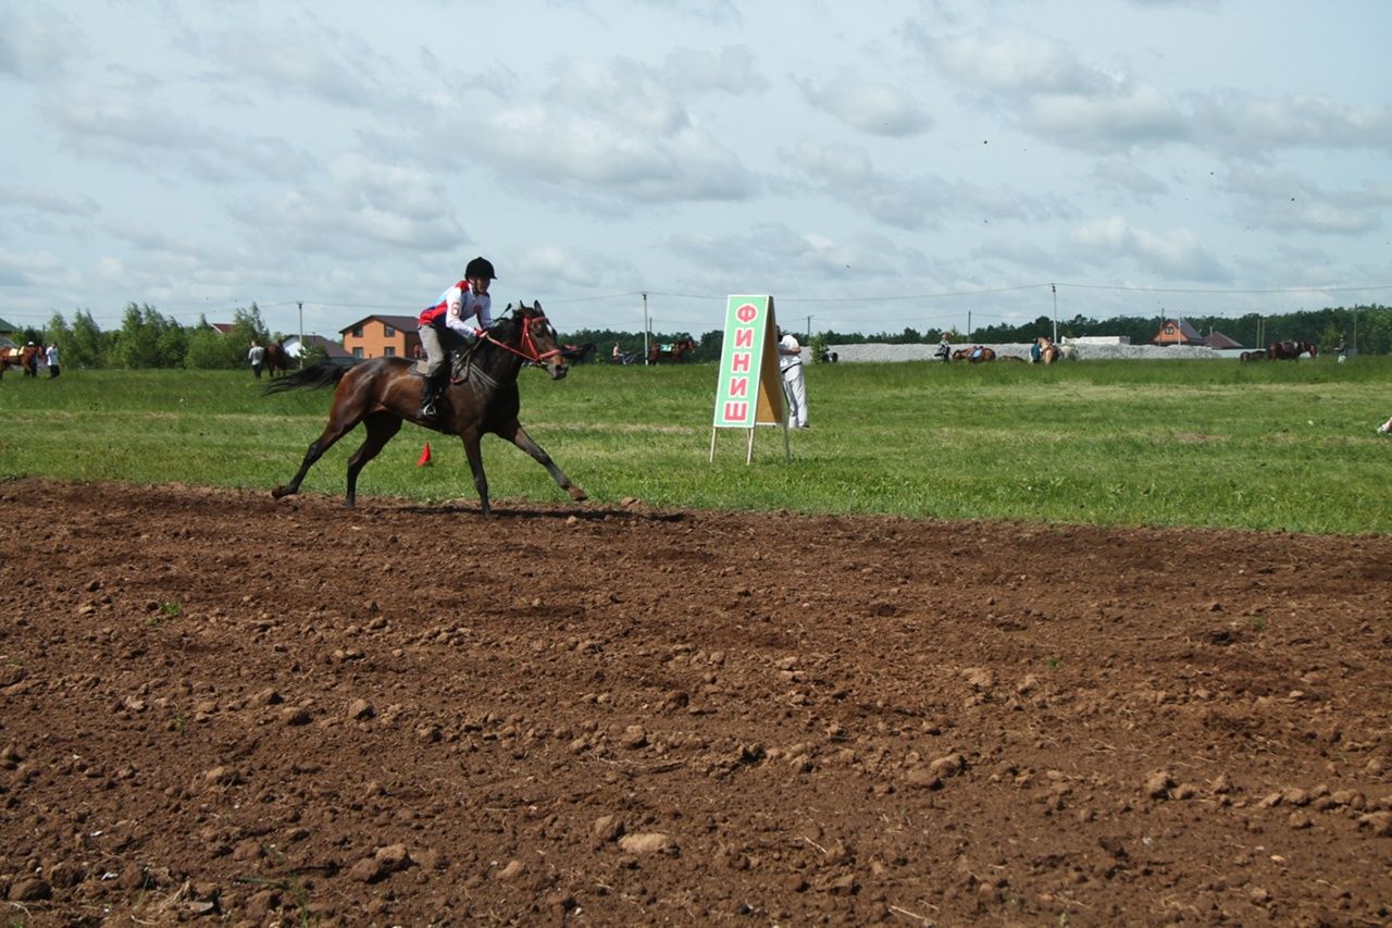
[[0, 0], [0, 316], [1392, 302], [1385, 0]]

